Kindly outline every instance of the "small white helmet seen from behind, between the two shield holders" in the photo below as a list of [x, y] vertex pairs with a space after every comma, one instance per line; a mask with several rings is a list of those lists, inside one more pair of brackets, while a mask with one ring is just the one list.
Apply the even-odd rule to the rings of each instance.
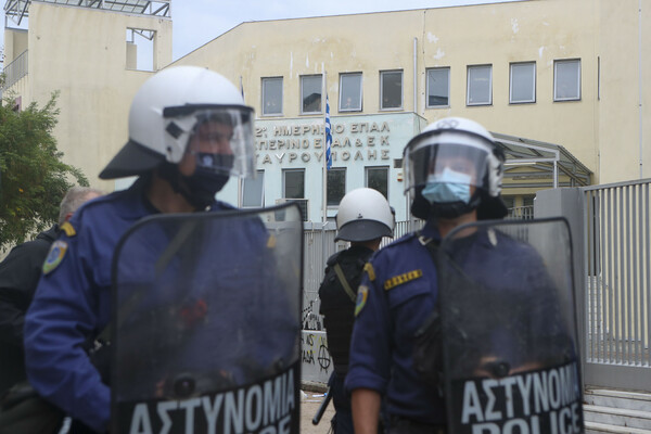
[[392, 237], [395, 217], [378, 190], [355, 189], [342, 199], [336, 214], [336, 240], [369, 241]]

